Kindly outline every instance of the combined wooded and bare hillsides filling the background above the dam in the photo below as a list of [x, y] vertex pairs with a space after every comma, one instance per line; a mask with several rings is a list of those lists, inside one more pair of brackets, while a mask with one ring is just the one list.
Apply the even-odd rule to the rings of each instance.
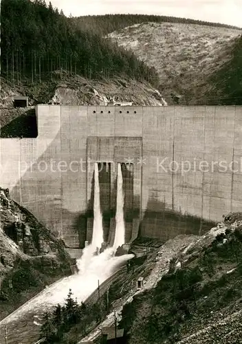
[[[135, 105], [154, 103], [142, 84], [147, 92], [158, 89], [169, 105], [240, 105], [242, 44], [234, 37], [240, 33], [230, 25], [153, 15], [67, 18], [45, 0], [2, 0], [1, 76], [8, 87], [1, 97], [9, 103], [23, 94], [32, 105], [48, 103], [78, 77], [85, 78], [83, 87], [104, 82], [102, 94]], [[123, 89], [110, 88], [118, 78]], [[143, 100], [120, 98], [124, 89]], [[100, 103], [82, 92], [79, 103]]]

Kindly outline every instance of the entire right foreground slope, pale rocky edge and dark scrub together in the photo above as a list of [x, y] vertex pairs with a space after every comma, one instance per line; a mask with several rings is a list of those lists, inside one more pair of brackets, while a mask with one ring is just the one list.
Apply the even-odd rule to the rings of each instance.
[[126, 344], [241, 343], [242, 213], [230, 213], [202, 236], [153, 242], [159, 248], [140, 244], [133, 242], [135, 258], [109, 288], [109, 312], [104, 293], [91, 332], [83, 338], [83, 319], [63, 343], [102, 344], [100, 330], [114, 325], [114, 312]]

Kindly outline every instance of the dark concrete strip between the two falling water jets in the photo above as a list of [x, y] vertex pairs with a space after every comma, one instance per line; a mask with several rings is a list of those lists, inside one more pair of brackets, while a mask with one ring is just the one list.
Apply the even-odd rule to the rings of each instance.
[[98, 171], [103, 238], [104, 241], [107, 241], [111, 217], [111, 164], [109, 162], [98, 162]]

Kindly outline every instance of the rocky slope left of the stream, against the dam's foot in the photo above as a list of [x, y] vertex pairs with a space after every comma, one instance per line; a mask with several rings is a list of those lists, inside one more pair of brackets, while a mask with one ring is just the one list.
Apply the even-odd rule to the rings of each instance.
[[57, 279], [70, 275], [70, 259], [56, 239], [0, 188], [0, 312], [3, 319]]

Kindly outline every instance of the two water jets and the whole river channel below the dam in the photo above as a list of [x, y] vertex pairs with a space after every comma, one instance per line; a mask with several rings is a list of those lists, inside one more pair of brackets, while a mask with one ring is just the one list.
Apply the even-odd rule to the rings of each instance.
[[[53, 310], [60, 303], [65, 304], [69, 289], [73, 297], [81, 303], [103, 283], [111, 277], [133, 255], [115, 257], [115, 251], [124, 244], [124, 196], [122, 192], [122, 171], [118, 166], [118, 192], [115, 239], [112, 247], [99, 253], [103, 242], [102, 214], [100, 211], [100, 190], [98, 182], [98, 164], [94, 172], [94, 229], [91, 244], [83, 249], [83, 255], [76, 261], [78, 273], [64, 277], [48, 286], [36, 297], [22, 305], [18, 310], [7, 316], [0, 323], [1, 343], [5, 343], [5, 326], [8, 331], [8, 344], [33, 344], [39, 339], [41, 316], [47, 310]], [[7, 343], [7, 342], [6, 342]]]

